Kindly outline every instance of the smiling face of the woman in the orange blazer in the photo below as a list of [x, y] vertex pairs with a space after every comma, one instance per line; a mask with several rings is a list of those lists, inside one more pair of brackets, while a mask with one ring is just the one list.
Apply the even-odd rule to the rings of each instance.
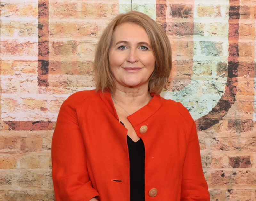
[[109, 50], [110, 70], [117, 88], [147, 87], [155, 68], [148, 34], [134, 23], [123, 23], [116, 27]]

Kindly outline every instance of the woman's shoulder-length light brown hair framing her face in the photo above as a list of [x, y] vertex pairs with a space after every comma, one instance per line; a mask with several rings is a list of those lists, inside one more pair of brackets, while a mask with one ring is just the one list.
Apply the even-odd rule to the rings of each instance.
[[115, 82], [110, 71], [108, 54], [116, 26], [127, 22], [143, 27], [148, 34], [155, 57], [155, 69], [149, 78], [148, 91], [160, 94], [172, 68], [170, 41], [161, 26], [147, 15], [137, 11], [119, 14], [108, 24], [101, 35], [94, 58], [96, 90], [103, 92], [115, 91]]

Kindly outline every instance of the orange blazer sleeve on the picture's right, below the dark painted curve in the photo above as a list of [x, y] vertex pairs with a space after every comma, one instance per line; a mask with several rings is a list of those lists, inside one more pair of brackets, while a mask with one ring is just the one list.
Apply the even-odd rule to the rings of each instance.
[[181, 201], [210, 201], [204, 178], [196, 124], [190, 116], [188, 147], [182, 172]]

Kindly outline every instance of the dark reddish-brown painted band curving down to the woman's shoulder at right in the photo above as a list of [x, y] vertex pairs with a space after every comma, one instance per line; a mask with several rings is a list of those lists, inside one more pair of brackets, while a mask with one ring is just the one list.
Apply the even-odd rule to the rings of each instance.
[[[225, 93], [217, 103], [217, 105], [202, 118], [196, 120], [197, 128], [199, 130], [206, 130], [217, 124], [227, 113], [235, 102], [237, 76], [238, 76], [238, 57], [239, 57], [239, 19], [240, 19], [240, 5], [239, 1], [230, 0], [229, 7], [229, 56], [228, 56], [228, 77]], [[237, 4], [238, 3], [238, 4]]]

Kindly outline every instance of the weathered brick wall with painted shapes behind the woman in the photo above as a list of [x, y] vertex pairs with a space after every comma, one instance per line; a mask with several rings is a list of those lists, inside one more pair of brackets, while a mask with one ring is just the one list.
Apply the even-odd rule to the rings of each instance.
[[94, 88], [100, 34], [137, 10], [166, 31], [162, 96], [196, 121], [211, 201], [256, 200], [256, 0], [4, 0], [0, 200], [54, 200], [51, 138], [62, 102]]

